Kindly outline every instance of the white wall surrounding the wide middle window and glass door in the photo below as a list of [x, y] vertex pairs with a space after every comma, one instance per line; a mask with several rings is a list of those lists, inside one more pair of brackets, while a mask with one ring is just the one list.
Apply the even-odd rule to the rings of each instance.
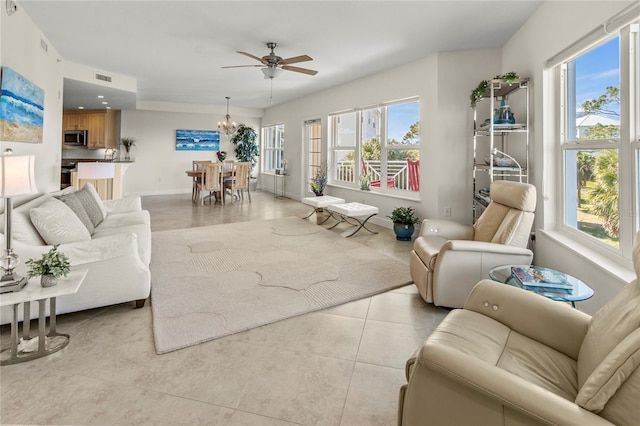
[[284, 157], [289, 160], [287, 195], [298, 199], [310, 195], [305, 176], [304, 120], [323, 120], [326, 147], [328, 114], [419, 96], [420, 199], [390, 198], [333, 186], [328, 187], [327, 193], [378, 206], [380, 214], [372, 221], [386, 226], [391, 226], [386, 215], [394, 207], [408, 205], [414, 206], [421, 218], [442, 216], [443, 208], [451, 207], [452, 218], [470, 222], [472, 110], [469, 93], [480, 80], [494, 76], [499, 70], [497, 49], [440, 53], [267, 109], [263, 125], [285, 125]]

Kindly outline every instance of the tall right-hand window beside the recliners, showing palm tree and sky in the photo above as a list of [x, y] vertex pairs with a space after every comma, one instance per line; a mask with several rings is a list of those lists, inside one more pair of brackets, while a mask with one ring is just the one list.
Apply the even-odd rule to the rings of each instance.
[[573, 55], [556, 74], [562, 227], [592, 247], [627, 258], [640, 199], [637, 28], [631, 24]]

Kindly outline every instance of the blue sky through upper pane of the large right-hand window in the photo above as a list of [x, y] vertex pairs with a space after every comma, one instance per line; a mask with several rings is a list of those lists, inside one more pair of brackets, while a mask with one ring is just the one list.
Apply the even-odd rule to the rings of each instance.
[[[576, 108], [605, 94], [609, 86], [620, 88], [619, 49], [620, 39], [615, 37], [576, 59]], [[608, 109], [620, 113], [620, 105]]]

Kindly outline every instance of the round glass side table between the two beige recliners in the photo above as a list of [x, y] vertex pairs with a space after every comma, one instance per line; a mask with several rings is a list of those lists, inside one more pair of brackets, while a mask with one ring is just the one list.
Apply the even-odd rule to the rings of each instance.
[[571, 306], [576, 307], [576, 302], [587, 300], [593, 296], [593, 289], [589, 287], [584, 281], [579, 280], [564, 272], [556, 271], [551, 268], [543, 268], [541, 266], [535, 266], [535, 268], [541, 272], [548, 272], [553, 276], [562, 276], [566, 280], [567, 288], [550, 288], [539, 287], [535, 285], [524, 286], [522, 282], [514, 275], [514, 268], [530, 268], [532, 265], [501, 265], [489, 271], [489, 277], [492, 280], [508, 284], [514, 287], [524, 288], [525, 290], [533, 291], [548, 299], [558, 300], [561, 302], [571, 303]]

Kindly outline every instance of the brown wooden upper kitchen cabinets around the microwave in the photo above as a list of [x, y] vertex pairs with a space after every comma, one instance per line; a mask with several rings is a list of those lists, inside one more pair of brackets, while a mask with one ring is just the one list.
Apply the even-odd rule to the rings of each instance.
[[65, 111], [62, 116], [63, 132], [88, 131], [87, 148], [89, 149], [115, 148], [117, 125], [118, 111], [113, 110]]

